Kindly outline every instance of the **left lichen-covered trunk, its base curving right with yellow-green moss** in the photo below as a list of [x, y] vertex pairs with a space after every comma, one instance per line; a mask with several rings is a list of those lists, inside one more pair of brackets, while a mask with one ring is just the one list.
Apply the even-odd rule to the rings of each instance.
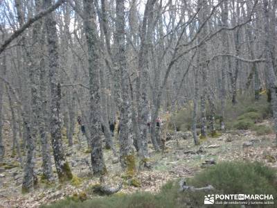
[[[44, 0], [44, 6], [51, 6], [51, 0]], [[55, 159], [55, 166], [59, 180], [71, 180], [72, 173], [69, 163], [66, 162], [64, 150], [62, 148], [62, 132], [60, 119], [61, 89], [58, 80], [59, 57], [57, 49], [57, 28], [53, 13], [46, 16], [46, 35], [49, 58], [49, 79], [50, 79], [50, 128], [51, 142]]]

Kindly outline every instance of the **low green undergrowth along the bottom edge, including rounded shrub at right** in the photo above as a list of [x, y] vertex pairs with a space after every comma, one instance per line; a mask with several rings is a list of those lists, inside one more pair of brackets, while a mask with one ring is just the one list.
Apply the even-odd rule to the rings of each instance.
[[[114, 194], [113, 196], [94, 197], [84, 200], [79, 196], [69, 197], [53, 205], [42, 206], [44, 208], [62, 207], [100, 207], [100, 208], [127, 208], [127, 207], [204, 207], [204, 196], [211, 194], [272, 194], [274, 203], [277, 197], [276, 170], [264, 166], [258, 162], [222, 162], [208, 168], [195, 177], [187, 180], [187, 184], [194, 187], [206, 187], [211, 184], [215, 191], [192, 192], [179, 191], [179, 182], [167, 182], [159, 193], [138, 191], [132, 194]], [[83, 193], [87, 196], [89, 193]], [[209, 205], [216, 207], [216, 205]], [[228, 207], [240, 207], [230, 205]], [[256, 205], [255, 207], [274, 207], [274, 205]]]

